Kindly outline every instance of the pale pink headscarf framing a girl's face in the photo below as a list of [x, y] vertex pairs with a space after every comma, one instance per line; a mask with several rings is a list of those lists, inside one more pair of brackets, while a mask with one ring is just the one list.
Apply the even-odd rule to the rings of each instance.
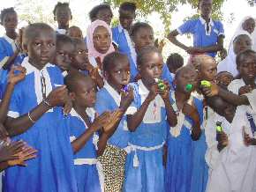
[[[108, 29], [109, 35], [110, 35], [110, 38], [111, 38], [110, 48], [107, 51], [107, 53], [105, 53], [105, 54], [99, 53], [94, 48], [94, 41], [93, 41], [94, 30], [98, 26], [104, 26], [106, 29]], [[112, 53], [112, 52], [115, 51], [115, 48], [112, 45], [112, 31], [111, 31], [109, 25], [105, 21], [95, 20], [94, 22], [91, 23], [90, 26], [88, 26], [88, 28], [87, 28], [87, 48], [88, 48], [88, 55], [89, 56], [94, 56], [95, 58], [96, 57], [100, 57], [101, 58], [101, 62], [103, 61], [103, 58], [104, 58], [105, 55], [108, 55], [109, 53]]]

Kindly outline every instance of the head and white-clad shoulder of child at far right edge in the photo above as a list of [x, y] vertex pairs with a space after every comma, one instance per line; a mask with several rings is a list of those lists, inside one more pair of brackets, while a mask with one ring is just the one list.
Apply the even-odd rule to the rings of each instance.
[[[235, 94], [243, 94], [243, 89], [254, 89], [256, 78], [256, 53], [246, 49], [237, 55], [237, 70], [240, 79], [233, 80], [228, 86], [229, 91]], [[242, 90], [241, 90], [241, 87]]]

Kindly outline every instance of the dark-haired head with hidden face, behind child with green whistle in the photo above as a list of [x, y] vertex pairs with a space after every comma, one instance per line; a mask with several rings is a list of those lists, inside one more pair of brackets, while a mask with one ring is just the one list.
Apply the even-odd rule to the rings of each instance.
[[169, 55], [166, 60], [166, 64], [169, 72], [173, 75], [174, 78], [176, 71], [184, 65], [184, 59], [181, 55], [174, 53]]

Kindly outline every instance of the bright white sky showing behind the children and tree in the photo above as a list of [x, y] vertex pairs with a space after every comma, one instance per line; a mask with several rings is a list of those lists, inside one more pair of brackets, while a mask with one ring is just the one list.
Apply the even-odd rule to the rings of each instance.
[[[0, 4], [0, 10], [15, 6], [17, 3], [19, 3], [19, 0], [8, 0], [8, 1], [2, 1]], [[31, 0], [32, 3], [38, 3], [38, 0]], [[56, 4], [56, 0], [41, 0], [40, 2], [44, 2], [47, 4], [47, 8], [54, 8], [54, 5]], [[89, 18], [87, 16], [87, 13], [97, 4], [101, 4], [102, 1], [100, 0], [70, 0], [70, 1], [60, 1], [60, 2], [69, 2], [71, 9], [72, 9], [72, 25], [79, 26], [83, 32], [86, 32], [86, 28], [88, 24], [90, 23]], [[183, 23], [184, 18], [192, 16], [194, 13], [197, 12], [197, 10], [192, 9], [190, 5], [180, 5], [177, 7], [177, 12], [173, 12], [171, 16], [171, 29], [176, 29], [178, 26], [180, 26]], [[49, 14], [49, 10], [46, 10]], [[50, 11], [51, 12], [51, 11]], [[256, 18], [256, 5], [254, 7], [250, 7], [246, 0], [226, 0], [224, 4], [222, 5], [222, 12], [223, 12], [223, 26], [225, 30], [225, 40], [224, 40], [224, 46], [227, 48], [230, 44], [230, 39], [233, 36], [233, 33], [235, 32], [237, 25], [240, 23], [240, 20], [244, 18], [245, 16], [254, 16]], [[18, 12], [19, 14], [19, 12]], [[117, 16], [117, 10], [114, 11], [115, 17]], [[52, 14], [49, 15], [49, 17], [53, 17]], [[231, 19], [233, 18], [233, 19]], [[147, 20], [154, 28], [154, 33], [156, 38], [162, 38], [163, 37], [163, 24], [160, 19], [160, 16], [157, 13], [152, 13], [151, 15], [148, 15], [147, 18], [139, 18], [140, 21]], [[230, 20], [232, 22], [230, 23]], [[19, 23], [22, 23], [19, 21]], [[4, 33], [4, 28], [0, 27], [0, 36], [2, 36]], [[84, 34], [85, 35], [85, 34]], [[192, 45], [192, 38], [188, 39], [187, 36], [183, 35], [179, 37], [179, 40], [184, 42], [186, 45]], [[185, 57], [187, 59], [187, 55], [185, 54], [184, 50], [175, 47], [174, 45], [171, 45], [167, 41], [166, 47], [163, 49], [163, 55], [164, 57], [168, 56], [170, 53], [177, 52]]]

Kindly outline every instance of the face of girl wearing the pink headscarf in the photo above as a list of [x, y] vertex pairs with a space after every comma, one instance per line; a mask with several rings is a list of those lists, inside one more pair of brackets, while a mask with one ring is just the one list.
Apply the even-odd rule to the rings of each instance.
[[93, 34], [94, 48], [101, 54], [107, 53], [111, 45], [111, 37], [108, 29], [104, 26], [98, 26]]

